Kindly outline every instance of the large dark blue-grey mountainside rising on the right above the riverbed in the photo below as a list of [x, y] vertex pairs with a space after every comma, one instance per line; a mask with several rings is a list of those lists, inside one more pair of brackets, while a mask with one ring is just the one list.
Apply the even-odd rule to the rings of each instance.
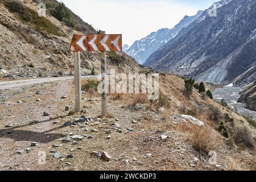
[[176, 72], [200, 81], [229, 84], [256, 64], [256, 1], [217, 2], [148, 57], [156, 71]]

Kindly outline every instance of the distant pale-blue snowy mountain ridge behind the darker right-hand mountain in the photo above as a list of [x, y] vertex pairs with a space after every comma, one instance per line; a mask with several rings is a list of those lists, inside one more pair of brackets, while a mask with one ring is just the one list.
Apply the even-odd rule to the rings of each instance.
[[145, 38], [136, 40], [129, 49], [123, 49], [123, 51], [134, 57], [137, 63], [144, 64], [151, 53], [173, 39], [182, 28], [187, 27], [202, 13], [203, 11], [199, 11], [195, 16], [185, 16], [174, 28], [162, 28], [156, 32], [152, 32]]

